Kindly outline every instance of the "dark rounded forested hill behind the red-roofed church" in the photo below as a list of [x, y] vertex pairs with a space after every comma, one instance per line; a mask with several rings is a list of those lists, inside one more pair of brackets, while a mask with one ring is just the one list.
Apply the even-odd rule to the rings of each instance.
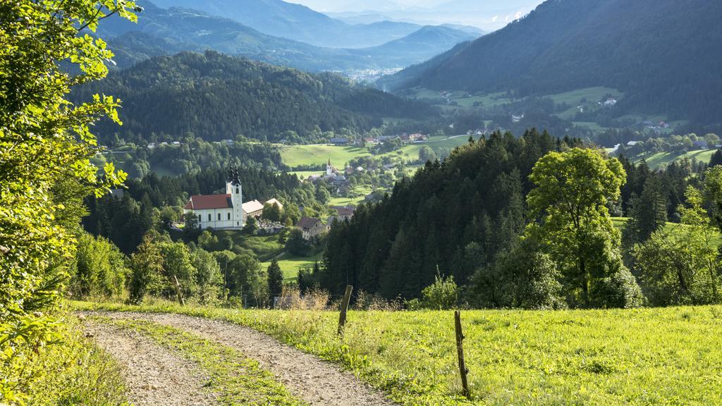
[[352, 86], [335, 74], [308, 74], [212, 51], [150, 59], [80, 88], [73, 100], [95, 93], [123, 101], [123, 126], [101, 122], [96, 130], [101, 140], [187, 132], [206, 140], [239, 134], [272, 142], [313, 140], [325, 131], [367, 131], [380, 126], [382, 116], [435, 114], [426, 105]]

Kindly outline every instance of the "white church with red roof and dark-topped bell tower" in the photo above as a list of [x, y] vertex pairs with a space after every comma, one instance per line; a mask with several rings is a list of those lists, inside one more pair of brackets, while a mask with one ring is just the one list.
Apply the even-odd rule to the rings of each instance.
[[243, 212], [243, 186], [235, 177], [227, 181], [225, 194], [191, 196], [183, 212], [195, 215], [201, 230], [240, 230], [246, 218]]

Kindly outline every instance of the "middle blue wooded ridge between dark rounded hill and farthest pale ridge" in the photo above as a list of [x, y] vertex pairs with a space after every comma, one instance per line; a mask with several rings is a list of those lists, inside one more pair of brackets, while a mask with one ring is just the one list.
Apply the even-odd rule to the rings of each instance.
[[144, 11], [137, 24], [111, 18], [98, 31], [108, 40], [121, 68], [152, 56], [212, 49], [308, 71], [391, 69], [419, 63], [478, 36], [473, 30], [457, 27], [417, 27], [401, 42], [360, 49], [323, 48], [267, 35], [235, 20], [193, 9], [162, 9], [149, 1], [140, 3]]

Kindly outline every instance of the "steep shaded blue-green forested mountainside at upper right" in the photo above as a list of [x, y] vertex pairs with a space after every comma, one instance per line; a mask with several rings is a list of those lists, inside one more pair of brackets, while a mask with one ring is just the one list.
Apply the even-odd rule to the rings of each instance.
[[383, 83], [551, 94], [606, 86], [619, 108], [718, 119], [722, 1], [549, 0], [459, 51]]

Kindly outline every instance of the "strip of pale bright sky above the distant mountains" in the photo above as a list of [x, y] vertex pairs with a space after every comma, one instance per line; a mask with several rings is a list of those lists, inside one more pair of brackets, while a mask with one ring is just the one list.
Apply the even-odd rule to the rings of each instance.
[[543, 0], [285, 0], [319, 12], [377, 12], [393, 20], [422, 24], [465, 24], [498, 30]]

